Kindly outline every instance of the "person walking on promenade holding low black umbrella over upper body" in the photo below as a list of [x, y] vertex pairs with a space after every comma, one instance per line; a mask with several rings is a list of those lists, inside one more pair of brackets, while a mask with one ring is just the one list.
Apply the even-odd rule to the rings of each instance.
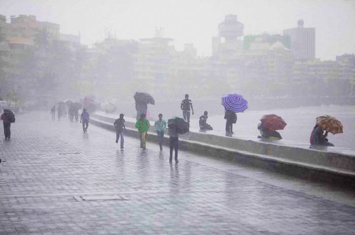
[[179, 134], [184, 135], [186, 132], [189, 132], [189, 126], [189, 123], [179, 117], [172, 117], [168, 120], [170, 147], [169, 163], [172, 162], [173, 150], [175, 150], [175, 163], [179, 163], [179, 161], [177, 160], [177, 153], [179, 151]]

